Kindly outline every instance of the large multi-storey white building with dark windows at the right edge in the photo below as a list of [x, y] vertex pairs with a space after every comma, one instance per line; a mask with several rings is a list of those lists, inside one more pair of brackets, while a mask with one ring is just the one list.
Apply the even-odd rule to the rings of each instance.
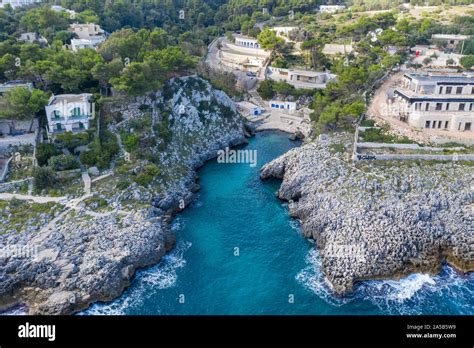
[[422, 129], [474, 130], [474, 76], [405, 74], [392, 114]]

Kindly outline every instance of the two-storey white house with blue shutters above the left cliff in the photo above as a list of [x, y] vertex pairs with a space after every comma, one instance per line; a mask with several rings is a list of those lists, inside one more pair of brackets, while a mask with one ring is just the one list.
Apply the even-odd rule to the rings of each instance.
[[89, 129], [95, 116], [92, 94], [61, 94], [52, 96], [46, 106], [48, 132], [82, 132]]

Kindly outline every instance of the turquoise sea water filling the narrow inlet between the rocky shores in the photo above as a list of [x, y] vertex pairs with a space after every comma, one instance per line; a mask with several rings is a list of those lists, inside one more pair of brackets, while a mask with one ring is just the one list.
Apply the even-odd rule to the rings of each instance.
[[245, 147], [257, 150], [256, 167], [207, 163], [195, 202], [173, 222], [175, 249], [139, 271], [120, 298], [82, 314], [474, 314], [474, 275], [448, 266], [334, 297], [317, 251], [275, 198], [279, 183], [258, 177], [295, 145], [282, 133], [260, 133]]

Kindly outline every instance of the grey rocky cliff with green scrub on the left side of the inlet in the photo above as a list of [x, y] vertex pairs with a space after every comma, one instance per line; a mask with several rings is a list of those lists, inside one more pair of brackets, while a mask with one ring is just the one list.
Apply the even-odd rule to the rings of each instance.
[[[137, 268], [173, 246], [168, 222], [198, 189], [197, 167], [245, 141], [229, 97], [196, 77], [113, 110], [121, 120], [109, 128], [118, 137], [137, 135], [138, 147], [122, 149], [93, 196], [63, 202], [38, 230], [0, 233], [0, 310], [68, 314], [120, 295]], [[150, 182], [143, 173], [153, 175]]]

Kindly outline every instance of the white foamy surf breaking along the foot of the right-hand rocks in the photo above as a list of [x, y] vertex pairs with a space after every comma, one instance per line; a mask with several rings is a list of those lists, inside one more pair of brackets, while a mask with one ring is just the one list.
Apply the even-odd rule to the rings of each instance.
[[449, 266], [443, 266], [435, 276], [416, 273], [400, 280], [363, 281], [356, 284], [352, 295], [336, 298], [324, 277], [316, 249], [309, 251], [306, 263], [308, 266], [298, 273], [297, 281], [333, 306], [365, 300], [386, 314], [442, 314], [448, 309], [440, 310], [439, 300], [445, 298], [457, 304], [456, 314], [474, 314], [474, 275], [460, 275]]

